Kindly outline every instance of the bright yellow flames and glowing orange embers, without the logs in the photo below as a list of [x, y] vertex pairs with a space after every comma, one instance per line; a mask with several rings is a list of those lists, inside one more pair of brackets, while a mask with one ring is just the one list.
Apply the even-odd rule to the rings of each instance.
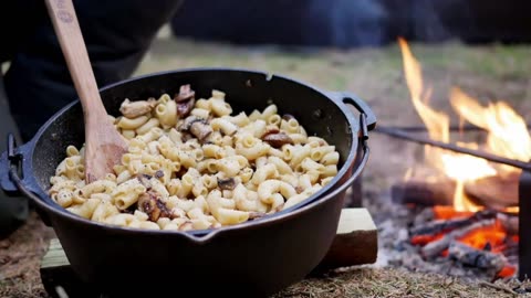
[[[449, 142], [449, 116], [428, 106], [430, 89], [425, 89], [420, 64], [412, 54], [404, 39], [398, 39], [398, 44], [402, 50], [404, 74], [415, 110], [425, 124], [431, 139]], [[531, 159], [531, 136], [525, 121], [507, 103], [496, 102], [482, 106], [477, 99], [455, 87], [450, 93], [450, 104], [459, 116], [460, 126], [468, 121], [488, 131], [487, 141], [481, 146], [482, 150], [521, 161]], [[459, 143], [459, 146], [471, 149], [480, 148], [478, 143]], [[464, 191], [467, 181], [490, 175], [513, 175], [514, 173], [519, 174], [520, 171], [509, 166], [491, 164], [485, 159], [469, 155], [455, 153], [427, 146], [425, 147], [425, 159], [434, 168], [456, 181], [454, 206], [435, 206], [433, 211], [437, 220], [468, 217], [482, 209], [467, 198]], [[409, 169], [405, 178], [407, 179], [410, 174]], [[518, 212], [519, 210], [518, 206], [514, 206], [508, 207], [506, 211]], [[444, 235], [445, 232], [435, 235], [416, 235], [412, 238], [412, 243], [426, 245]], [[519, 241], [518, 235], [508, 237], [506, 228], [497, 220], [493, 225], [471, 231], [458, 241], [477, 249], [485, 249], [489, 245], [492, 253], [503, 253], [507, 248], [508, 238], [513, 242]], [[448, 255], [448, 249], [442, 252], [441, 255]], [[516, 267], [506, 265], [498, 273], [498, 277], [509, 277], [514, 273]]]

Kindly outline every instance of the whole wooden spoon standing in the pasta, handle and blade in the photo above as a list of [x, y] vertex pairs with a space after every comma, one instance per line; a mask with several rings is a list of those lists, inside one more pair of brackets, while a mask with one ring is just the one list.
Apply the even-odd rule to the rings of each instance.
[[85, 180], [90, 183], [113, 173], [127, 145], [103, 106], [72, 0], [46, 0], [46, 7], [83, 107]]

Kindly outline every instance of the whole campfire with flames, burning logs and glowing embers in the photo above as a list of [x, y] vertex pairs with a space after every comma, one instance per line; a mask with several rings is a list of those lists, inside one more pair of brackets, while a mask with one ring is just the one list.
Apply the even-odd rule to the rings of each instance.
[[[429, 106], [430, 88], [407, 42], [398, 40], [410, 99], [430, 140], [455, 143], [521, 162], [531, 158], [527, 124], [504, 102], [481, 105], [458, 87], [449, 92], [452, 115]], [[464, 127], [485, 131], [479, 141], [466, 140]], [[451, 132], [457, 130], [455, 137]], [[421, 167], [409, 169], [393, 185], [395, 202], [428, 206], [416, 214], [408, 243], [424, 259], [450, 259], [462, 266], [511, 277], [518, 264], [518, 183], [521, 169], [472, 155], [425, 146]]]

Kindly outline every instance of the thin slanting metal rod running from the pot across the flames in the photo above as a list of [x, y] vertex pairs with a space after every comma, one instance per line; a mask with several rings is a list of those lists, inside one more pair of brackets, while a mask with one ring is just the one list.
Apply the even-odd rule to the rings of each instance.
[[509, 158], [503, 158], [503, 157], [492, 155], [492, 153], [488, 153], [488, 152], [485, 152], [485, 151], [481, 151], [481, 150], [469, 149], [469, 148], [460, 147], [460, 146], [457, 146], [457, 145], [454, 145], [454, 143], [447, 143], [447, 142], [444, 142], [444, 141], [433, 140], [433, 139], [421, 137], [421, 136], [415, 136], [415, 135], [412, 135], [409, 132], [406, 132], [404, 130], [396, 129], [396, 128], [393, 128], [393, 127], [382, 127], [382, 126], [379, 126], [374, 131], [375, 132], [382, 132], [382, 134], [385, 134], [385, 135], [394, 137], [394, 138], [410, 140], [410, 141], [415, 141], [415, 142], [418, 142], [418, 143], [434, 146], [434, 147], [438, 147], [438, 148], [441, 148], [441, 149], [445, 149], [445, 150], [450, 150], [450, 151], [458, 152], [458, 153], [475, 156], [475, 157], [482, 158], [482, 159], [486, 159], [486, 160], [489, 160], [489, 161], [492, 161], [492, 162], [503, 163], [503, 164], [507, 164], [507, 166], [511, 166], [511, 167], [519, 168], [519, 169], [531, 172], [531, 164], [528, 163], [528, 162], [523, 162], [523, 161], [514, 160], [514, 159], [509, 159]]

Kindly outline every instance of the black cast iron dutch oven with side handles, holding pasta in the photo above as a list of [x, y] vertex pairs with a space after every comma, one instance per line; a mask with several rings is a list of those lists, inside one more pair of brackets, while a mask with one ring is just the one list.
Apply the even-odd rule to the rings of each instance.
[[[229, 295], [263, 297], [296, 283], [326, 254], [335, 235], [345, 190], [368, 159], [367, 130], [376, 125], [368, 106], [350, 93], [323, 92], [282, 76], [247, 70], [195, 68], [149, 74], [101, 89], [107, 111], [118, 115], [124, 98], [146, 99], [175, 94], [191, 84], [196, 96], [211, 89], [227, 94], [235, 111], [278, 105], [292, 114], [309, 135], [317, 135], [340, 152], [337, 175], [319, 193], [273, 215], [217, 230], [143, 231], [91, 222], [69, 213], [46, 195], [50, 177], [69, 145], [84, 141], [77, 100], [56, 113], [34, 138], [1, 157], [1, 187], [31, 198], [55, 231], [73, 270], [106, 292], [153, 297]], [[352, 105], [357, 111], [348, 108]], [[169, 294], [169, 295], [168, 295]]]

